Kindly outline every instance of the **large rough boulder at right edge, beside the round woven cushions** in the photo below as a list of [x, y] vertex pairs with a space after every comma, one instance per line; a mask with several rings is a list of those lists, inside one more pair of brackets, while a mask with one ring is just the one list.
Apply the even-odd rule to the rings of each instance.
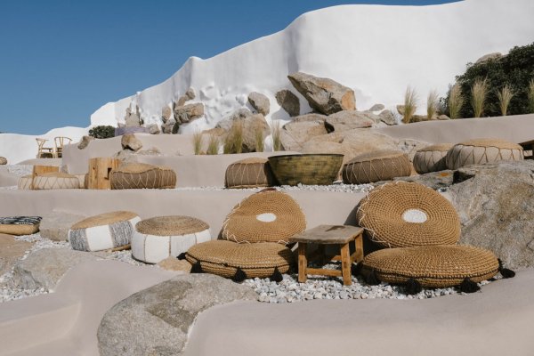
[[488, 248], [506, 267], [534, 267], [534, 161], [460, 168], [450, 187], [461, 244]]

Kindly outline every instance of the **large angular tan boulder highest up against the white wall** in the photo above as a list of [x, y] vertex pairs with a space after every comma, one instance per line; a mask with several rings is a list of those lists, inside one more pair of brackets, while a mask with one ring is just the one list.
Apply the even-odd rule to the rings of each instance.
[[328, 78], [297, 72], [287, 76], [295, 89], [303, 94], [313, 109], [330, 115], [341, 110], [356, 109], [354, 91]]

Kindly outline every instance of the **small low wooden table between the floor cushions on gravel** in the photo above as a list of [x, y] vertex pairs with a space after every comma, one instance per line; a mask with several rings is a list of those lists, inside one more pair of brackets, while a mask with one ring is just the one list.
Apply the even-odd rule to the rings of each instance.
[[[352, 284], [352, 263], [363, 259], [363, 228], [349, 225], [320, 225], [312, 230], [304, 231], [289, 239], [289, 242], [298, 242], [298, 281], [303, 283], [308, 279], [308, 274], [322, 276], [343, 277], [344, 286]], [[351, 255], [350, 244], [354, 243], [354, 253]], [[339, 245], [340, 255], [335, 255], [329, 261], [341, 261], [341, 271], [309, 268], [306, 256], [308, 244], [320, 245], [323, 251], [326, 245]]]

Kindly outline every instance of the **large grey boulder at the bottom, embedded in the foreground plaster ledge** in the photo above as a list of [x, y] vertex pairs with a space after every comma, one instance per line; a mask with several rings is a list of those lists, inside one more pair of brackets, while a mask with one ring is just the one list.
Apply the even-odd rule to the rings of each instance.
[[186, 274], [144, 289], [113, 306], [98, 328], [101, 356], [182, 355], [200, 312], [254, 301], [249, 288], [211, 274]]

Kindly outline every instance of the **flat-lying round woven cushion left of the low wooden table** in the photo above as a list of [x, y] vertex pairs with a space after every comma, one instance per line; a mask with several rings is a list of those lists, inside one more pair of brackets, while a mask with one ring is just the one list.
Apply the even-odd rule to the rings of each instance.
[[213, 240], [191, 247], [185, 258], [191, 264], [200, 262], [202, 271], [225, 278], [232, 278], [238, 268], [247, 274], [247, 278], [267, 278], [275, 268], [286, 273], [293, 263], [291, 250], [272, 242], [236, 244]]

